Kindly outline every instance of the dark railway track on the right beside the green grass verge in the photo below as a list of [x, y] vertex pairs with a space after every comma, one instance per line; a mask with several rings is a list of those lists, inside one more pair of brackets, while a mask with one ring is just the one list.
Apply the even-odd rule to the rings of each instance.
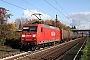
[[83, 49], [86, 42], [86, 38], [80, 41], [78, 44], [73, 46], [69, 51], [59, 56], [56, 60], [79, 60], [81, 57], [81, 50]]

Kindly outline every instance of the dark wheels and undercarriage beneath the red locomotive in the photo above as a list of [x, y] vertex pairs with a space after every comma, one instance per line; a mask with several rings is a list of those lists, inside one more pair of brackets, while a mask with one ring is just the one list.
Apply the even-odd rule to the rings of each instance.
[[49, 42], [49, 43], [43, 43], [43, 44], [36, 44], [35, 42], [20, 42], [20, 51], [35, 51], [40, 48], [44, 48], [47, 46], [52, 46], [55, 44], [59, 44], [60, 41], [55, 41], [55, 42]]

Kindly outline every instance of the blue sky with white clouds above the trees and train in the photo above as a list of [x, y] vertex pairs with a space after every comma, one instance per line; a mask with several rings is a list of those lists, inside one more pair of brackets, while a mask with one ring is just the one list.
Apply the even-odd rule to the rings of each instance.
[[[17, 18], [33, 19], [40, 13], [41, 19], [55, 19], [77, 29], [90, 29], [90, 0], [0, 0], [0, 7], [11, 13], [11, 21]], [[9, 20], [9, 21], [10, 21]]]

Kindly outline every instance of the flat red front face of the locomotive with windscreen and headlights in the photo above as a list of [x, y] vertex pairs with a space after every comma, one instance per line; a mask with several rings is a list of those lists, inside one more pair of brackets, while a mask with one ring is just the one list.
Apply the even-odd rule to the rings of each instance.
[[23, 26], [21, 42], [35, 42], [37, 37], [37, 26]]

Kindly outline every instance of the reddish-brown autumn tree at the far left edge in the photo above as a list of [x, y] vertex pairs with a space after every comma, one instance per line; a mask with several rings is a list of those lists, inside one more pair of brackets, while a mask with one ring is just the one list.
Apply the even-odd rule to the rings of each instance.
[[12, 14], [9, 14], [7, 11], [5, 8], [0, 7], [0, 42], [5, 41], [10, 29], [7, 20], [10, 19]]

